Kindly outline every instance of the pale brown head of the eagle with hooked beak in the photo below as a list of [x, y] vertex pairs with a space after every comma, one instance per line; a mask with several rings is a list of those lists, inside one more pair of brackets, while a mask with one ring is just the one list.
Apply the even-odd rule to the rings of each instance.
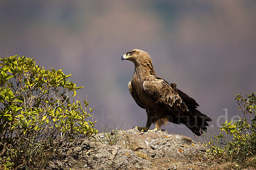
[[151, 57], [149, 54], [145, 51], [138, 50], [138, 49], [133, 49], [131, 51], [128, 51], [126, 54], [124, 54], [121, 58], [130, 60], [135, 63], [140, 63], [140, 62], [148, 62], [151, 61]]

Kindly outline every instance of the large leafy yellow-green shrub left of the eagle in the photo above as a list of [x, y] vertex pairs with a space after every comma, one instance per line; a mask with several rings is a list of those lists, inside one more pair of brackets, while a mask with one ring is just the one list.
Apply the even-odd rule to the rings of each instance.
[[67, 80], [71, 74], [45, 70], [26, 57], [0, 61], [2, 168], [42, 169], [54, 149], [71, 147], [98, 132], [95, 122], [86, 120], [92, 117], [89, 103], [70, 102], [82, 88]]

